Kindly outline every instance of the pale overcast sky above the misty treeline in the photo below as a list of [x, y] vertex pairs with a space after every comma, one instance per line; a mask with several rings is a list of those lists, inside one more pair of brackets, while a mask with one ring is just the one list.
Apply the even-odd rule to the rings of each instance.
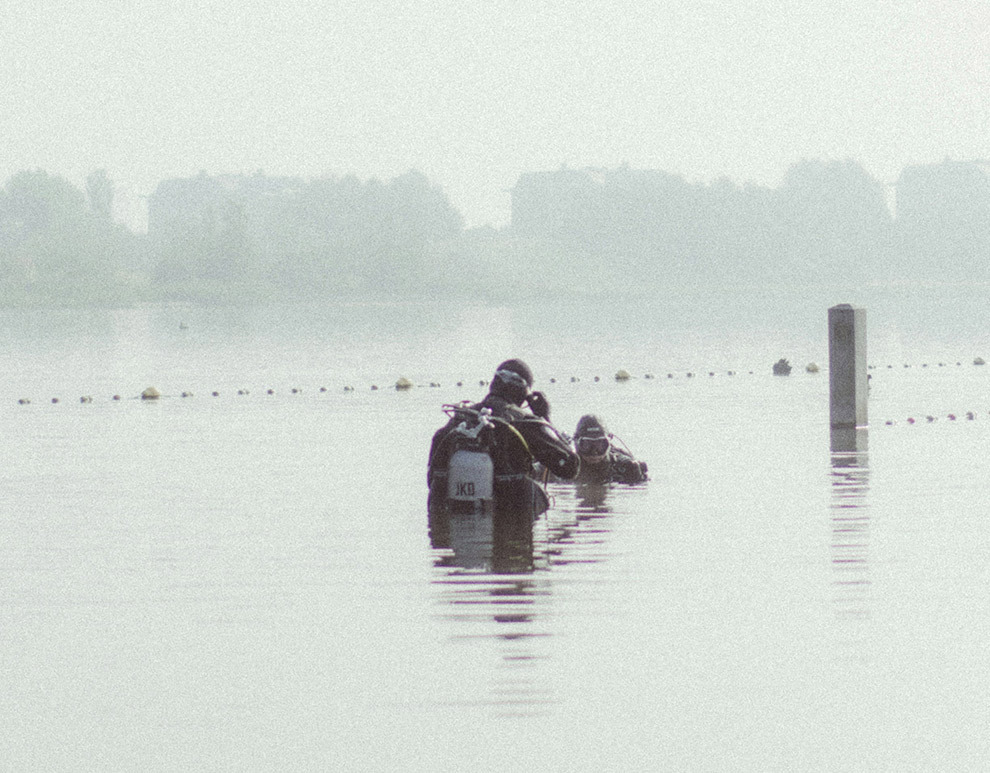
[[0, 0], [0, 175], [418, 169], [469, 226], [527, 171], [779, 184], [990, 156], [987, 0]]

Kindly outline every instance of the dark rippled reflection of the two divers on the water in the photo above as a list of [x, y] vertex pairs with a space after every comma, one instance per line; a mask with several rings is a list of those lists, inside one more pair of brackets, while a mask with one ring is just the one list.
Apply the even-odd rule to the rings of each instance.
[[[608, 486], [561, 486], [544, 516], [430, 513], [433, 584], [452, 641], [488, 641], [498, 661], [483, 703], [534, 716], [554, 704], [546, 663], [554, 616], [552, 571], [602, 560]], [[580, 566], [578, 566], [580, 568]]]

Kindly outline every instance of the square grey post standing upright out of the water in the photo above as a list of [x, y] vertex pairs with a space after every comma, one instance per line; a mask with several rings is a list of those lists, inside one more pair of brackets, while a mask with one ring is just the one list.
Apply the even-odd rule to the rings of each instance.
[[865, 427], [866, 309], [840, 303], [828, 310], [828, 391], [832, 427]]

